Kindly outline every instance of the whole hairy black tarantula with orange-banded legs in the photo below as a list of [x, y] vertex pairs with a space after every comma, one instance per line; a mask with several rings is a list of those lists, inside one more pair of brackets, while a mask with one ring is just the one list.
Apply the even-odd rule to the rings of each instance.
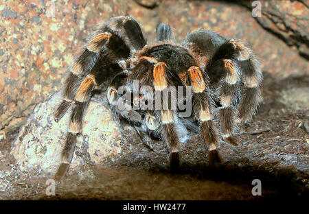
[[[262, 72], [258, 60], [239, 40], [211, 31], [192, 32], [181, 44], [173, 43], [171, 37], [170, 26], [160, 24], [157, 43], [146, 45], [141, 27], [130, 16], [111, 18], [91, 35], [69, 67], [63, 99], [54, 114], [58, 121], [72, 105], [62, 163], [55, 176], [57, 180], [66, 174], [71, 163], [91, 92], [102, 86], [108, 87], [108, 102], [119, 115], [141, 123], [146, 131], [160, 134], [170, 150], [172, 170], [179, 167], [181, 132], [186, 130], [179, 103], [172, 108], [171, 99], [166, 100], [163, 96], [170, 86], [178, 87], [176, 91], [182, 86], [189, 95], [177, 98], [184, 103], [192, 101], [191, 118], [198, 123], [201, 141], [209, 150], [210, 163], [220, 162], [217, 151], [220, 135], [214, 119], [220, 121], [223, 139], [236, 145], [233, 134], [237, 124], [251, 119], [260, 102]], [[120, 86], [126, 85], [126, 91], [133, 91], [134, 81], [138, 81], [139, 95], [125, 99], [126, 108], [119, 110]], [[143, 86], [151, 90], [144, 90]], [[148, 104], [159, 100], [166, 108], [142, 109], [136, 105], [142, 99], [147, 99]]]

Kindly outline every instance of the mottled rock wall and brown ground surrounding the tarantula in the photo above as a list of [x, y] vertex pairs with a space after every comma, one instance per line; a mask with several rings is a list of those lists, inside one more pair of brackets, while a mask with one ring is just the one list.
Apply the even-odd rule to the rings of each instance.
[[[57, 125], [50, 119], [53, 106], [58, 104], [58, 94], [54, 93], [59, 91], [66, 69], [73, 62], [74, 51], [85, 43], [91, 30], [104, 19], [123, 14], [134, 16], [141, 23], [148, 43], [155, 40], [155, 27], [161, 22], [174, 28], [177, 41], [183, 40], [187, 32], [204, 28], [249, 43], [262, 62], [264, 100], [253, 123], [242, 127], [240, 146], [222, 145], [227, 161], [220, 169], [205, 168], [207, 152], [194, 141], [193, 134], [191, 147], [184, 145], [185, 176], [179, 178], [165, 174], [167, 156], [160, 142], [151, 142], [153, 148], [149, 150], [137, 134], [132, 134], [133, 128], [121, 121], [113, 122], [108, 106], [103, 105], [104, 96], [95, 97], [72, 163], [72, 169], [96, 167], [95, 173], [93, 169], [89, 169], [91, 173], [76, 174], [72, 170], [58, 198], [81, 198], [87, 191], [79, 189], [72, 193], [69, 184], [80, 185], [80, 180], [98, 177], [106, 182], [87, 184], [84, 188], [98, 185], [101, 196], [89, 193], [85, 198], [179, 199], [172, 193], [175, 189], [164, 193], [151, 190], [155, 185], [169, 189], [175, 182], [187, 187], [181, 195], [192, 195], [190, 187], [200, 189], [196, 189], [192, 199], [251, 199], [251, 191], [246, 189], [250, 189], [249, 180], [257, 175], [273, 182], [268, 183], [266, 195], [282, 187], [279, 183], [277, 189], [271, 188], [277, 180], [284, 180], [283, 185], [288, 183], [296, 195], [306, 195], [309, 3], [260, 3], [262, 16], [253, 18], [251, 1], [1, 1], [0, 199], [45, 199], [42, 185], [45, 187], [45, 178], [51, 176], [58, 163], [61, 145], [55, 142], [63, 140], [67, 121], [64, 118]], [[100, 112], [95, 110], [98, 108]], [[107, 125], [98, 126], [104, 120]], [[102, 150], [96, 149], [101, 147]], [[115, 171], [115, 167], [124, 168]], [[217, 171], [218, 176], [209, 177], [204, 172], [207, 170]], [[35, 178], [29, 178], [30, 171]], [[231, 176], [233, 173], [249, 176], [238, 178]], [[154, 175], [163, 182], [151, 180]], [[142, 187], [144, 191], [133, 184], [148, 179], [150, 183]], [[223, 189], [229, 191], [223, 193]]]

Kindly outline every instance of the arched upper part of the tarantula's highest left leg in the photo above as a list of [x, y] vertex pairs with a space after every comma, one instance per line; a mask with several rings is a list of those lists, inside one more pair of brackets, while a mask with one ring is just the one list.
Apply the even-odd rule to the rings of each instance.
[[122, 58], [129, 58], [130, 50], [139, 50], [145, 45], [146, 40], [135, 19], [130, 16], [112, 18], [91, 36], [86, 49], [74, 62], [71, 72], [76, 75], [86, 75], [93, 69], [102, 54], [108, 58], [107, 61], [115, 62]]

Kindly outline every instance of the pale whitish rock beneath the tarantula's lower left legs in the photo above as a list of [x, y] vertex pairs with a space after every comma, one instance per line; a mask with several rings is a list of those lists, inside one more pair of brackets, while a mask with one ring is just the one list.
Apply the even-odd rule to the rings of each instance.
[[[60, 93], [56, 93], [47, 102], [38, 104], [14, 141], [11, 154], [16, 159], [15, 167], [21, 171], [55, 174], [70, 118], [68, 111], [58, 123], [54, 121], [53, 112], [59, 101]], [[85, 164], [102, 163], [106, 158], [121, 153], [120, 130], [98, 99], [94, 98], [89, 103], [82, 132], [84, 134], [78, 137], [70, 171]]]

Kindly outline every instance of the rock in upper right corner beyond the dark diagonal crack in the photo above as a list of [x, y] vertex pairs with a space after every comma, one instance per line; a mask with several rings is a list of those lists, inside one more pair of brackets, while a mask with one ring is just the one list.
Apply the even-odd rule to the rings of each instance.
[[[309, 1], [262, 0], [262, 17], [256, 20], [309, 60]], [[248, 8], [250, 3], [244, 2]]]

